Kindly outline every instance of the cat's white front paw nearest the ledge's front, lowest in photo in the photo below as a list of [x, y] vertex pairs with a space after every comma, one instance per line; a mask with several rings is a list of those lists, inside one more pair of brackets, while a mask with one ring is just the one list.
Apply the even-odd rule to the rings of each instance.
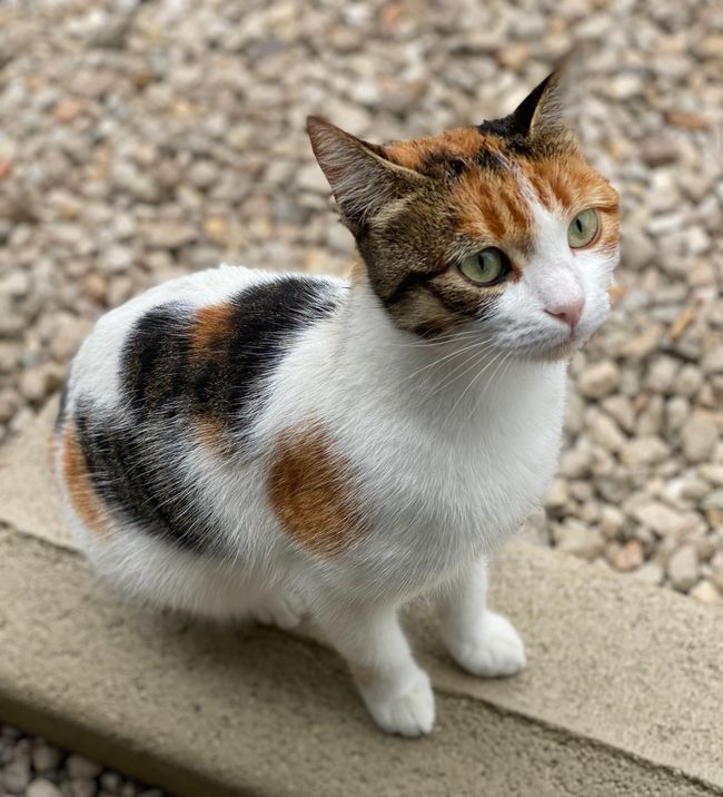
[[419, 670], [404, 685], [402, 693], [382, 696], [360, 687], [361, 697], [377, 725], [388, 734], [422, 736], [434, 725], [434, 692], [426, 672]]

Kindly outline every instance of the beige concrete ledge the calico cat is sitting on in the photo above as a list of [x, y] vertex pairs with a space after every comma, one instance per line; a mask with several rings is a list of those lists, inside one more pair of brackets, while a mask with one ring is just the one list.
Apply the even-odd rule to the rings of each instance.
[[407, 741], [320, 646], [123, 607], [80, 557], [6, 528], [0, 717], [189, 797], [723, 794], [720, 614], [621, 578], [515, 547], [494, 598], [531, 663], [509, 681], [456, 670], [418, 608], [439, 719]]

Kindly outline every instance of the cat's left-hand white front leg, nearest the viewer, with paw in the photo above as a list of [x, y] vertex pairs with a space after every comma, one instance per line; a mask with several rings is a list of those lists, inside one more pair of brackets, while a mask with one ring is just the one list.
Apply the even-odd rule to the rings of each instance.
[[344, 656], [364, 702], [386, 731], [428, 734], [434, 725], [429, 677], [415, 662], [396, 606], [328, 601], [314, 618]]

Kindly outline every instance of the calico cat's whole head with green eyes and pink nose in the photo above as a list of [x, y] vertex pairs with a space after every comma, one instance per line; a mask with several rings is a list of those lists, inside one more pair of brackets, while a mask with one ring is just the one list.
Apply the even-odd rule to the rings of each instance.
[[398, 327], [424, 337], [476, 327], [497, 347], [556, 358], [605, 319], [618, 199], [564, 121], [570, 81], [563, 65], [503, 119], [384, 146], [308, 119]]

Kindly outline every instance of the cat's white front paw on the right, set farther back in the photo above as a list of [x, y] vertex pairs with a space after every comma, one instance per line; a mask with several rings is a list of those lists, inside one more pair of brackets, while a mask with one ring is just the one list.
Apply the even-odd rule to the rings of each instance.
[[519, 634], [509, 620], [494, 611], [485, 613], [479, 629], [446, 641], [457, 663], [475, 676], [514, 676], [527, 663]]

